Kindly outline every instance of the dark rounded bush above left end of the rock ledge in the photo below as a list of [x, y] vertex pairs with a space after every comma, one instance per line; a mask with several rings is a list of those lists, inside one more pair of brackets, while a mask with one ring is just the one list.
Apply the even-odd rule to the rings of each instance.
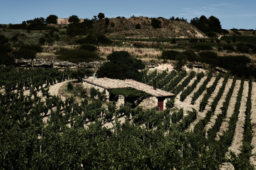
[[19, 50], [13, 51], [12, 54], [17, 59], [34, 59], [36, 57], [36, 53], [39, 52], [42, 52], [42, 47], [39, 44], [23, 44]]

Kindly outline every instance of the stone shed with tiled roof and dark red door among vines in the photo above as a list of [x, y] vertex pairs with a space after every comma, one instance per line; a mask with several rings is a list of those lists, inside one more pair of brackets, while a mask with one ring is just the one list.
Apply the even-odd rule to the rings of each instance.
[[[144, 99], [139, 106], [142, 106], [145, 109], [150, 109], [153, 107], [158, 107], [159, 111], [166, 109], [166, 101], [167, 98], [174, 96], [174, 94], [166, 92], [164, 90], [157, 89], [147, 84], [143, 84], [141, 82], [126, 79], [126, 80], [118, 80], [118, 79], [111, 79], [111, 78], [83, 78], [83, 86], [85, 88], [94, 87], [98, 89], [100, 92], [106, 90], [107, 98], [109, 98], [109, 89], [118, 89], [118, 88], [134, 88], [137, 90], [142, 90], [146, 93], [152, 95], [150, 98]], [[124, 104], [123, 96], [119, 95], [119, 100], [122, 101]], [[119, 105], [117, 103], [117, 105]]]

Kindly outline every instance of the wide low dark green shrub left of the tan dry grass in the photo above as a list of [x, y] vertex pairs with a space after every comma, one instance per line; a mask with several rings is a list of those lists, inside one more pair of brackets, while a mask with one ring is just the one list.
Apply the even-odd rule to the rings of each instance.
[[96, 52], [81, 50], [77, 48], [60, 48], [60, 50], [55, 52], [55, 55], [57, 55], [57, 59], [70, 61], [77, 64], [78, 62], [90, 62], [101, 59]]

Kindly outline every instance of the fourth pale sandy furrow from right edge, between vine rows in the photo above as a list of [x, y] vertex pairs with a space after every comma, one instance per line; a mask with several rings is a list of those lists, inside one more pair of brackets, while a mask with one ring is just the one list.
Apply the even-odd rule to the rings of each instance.
[[[214, 115], [211, 117], [210, 122], [208, 122], [208, 124], [207, 124], [206, 127], [205, 127], [206, 132], [207, 132], [210, 128], [212, 128], [212, 126], [214, 126], [215, 121], [216, 121], [216, 119], [217, 119], [217, 116], [222, 113], [222, 111], [221, 111], [220, 108], [223, 106], [223, 103], [225, 102], [225, 99], [226, 99], [226, 97], [227, 97], [226, 95], [227, 95], [227, 93], [228, 93], [228, 91], [229, 91], [229, 88], [230, 88], [231, 85], [232, 85], [232, 81], [233, 81], [233, 79], [228, 79], [228, 82], [227, 82], [227, 84], [226, 84], [226, 86], [225, 86], [225, 89], [224, 89], [224, 92], [223, 92], [223, 94], [222, 94], [222, 97], [220, 98], [220, 100], [219, 100], [219, 102], [218, 102], [218, 104], [217, 104], [217, 106], [216, 106]], [[207, 133], [206, 133], [206, 136], [207, 136]]]

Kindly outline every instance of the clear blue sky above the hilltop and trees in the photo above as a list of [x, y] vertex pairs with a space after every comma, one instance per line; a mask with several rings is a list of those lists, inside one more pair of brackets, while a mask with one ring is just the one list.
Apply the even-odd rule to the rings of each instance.
[[92, 18], [146, 16], [184, 17], [190, 22], [202, 15], [217, 17], [223, 29], [256, 29], [256, 0], [0, 0], [0, 24], [20, 24], [50, 14]]

